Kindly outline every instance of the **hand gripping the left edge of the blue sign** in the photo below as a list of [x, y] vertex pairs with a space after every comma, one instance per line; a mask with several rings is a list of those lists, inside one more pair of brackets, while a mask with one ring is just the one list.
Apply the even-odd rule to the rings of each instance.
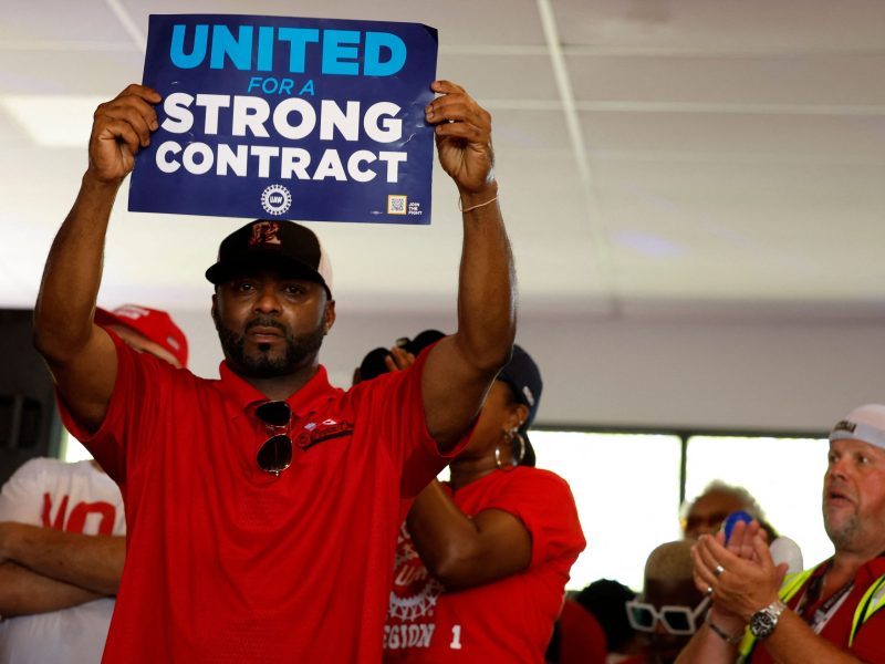
[[159, 126], [154, 110], [159, 101], [153, 89], [132, 84], [95, 110], [90, 172], [96, 179], [118, 184], [132, 172], [136, 153], [150, 144], [150, 133]]

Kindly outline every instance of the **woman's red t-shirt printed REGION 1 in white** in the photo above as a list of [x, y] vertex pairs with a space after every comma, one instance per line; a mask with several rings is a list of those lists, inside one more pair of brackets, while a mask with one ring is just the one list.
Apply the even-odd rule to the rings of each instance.
[[452, 495], [468, 516], [500, 509], [532, 537], [529, 567], [493, 583], [446, 592], [429, 575], [405, 525], [384, 626], [388, 663], [542, 663], [569, 570], [586, 542], [564, 479], [548, 470], [496, 470]]

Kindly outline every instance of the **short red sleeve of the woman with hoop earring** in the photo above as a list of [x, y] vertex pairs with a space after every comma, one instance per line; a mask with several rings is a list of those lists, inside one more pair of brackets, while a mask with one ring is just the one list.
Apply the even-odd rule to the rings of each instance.
[[577, 557], [586, 541], [572, 490], [559, 475], [539, 468], [516, 468], [485, 509], [519, 518], [532, 536], [531, 566]]

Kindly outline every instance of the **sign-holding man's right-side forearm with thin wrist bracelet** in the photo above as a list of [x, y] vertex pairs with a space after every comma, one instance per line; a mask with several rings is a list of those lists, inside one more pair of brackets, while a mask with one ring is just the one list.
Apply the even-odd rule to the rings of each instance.
[[[461, 190], [464, 247], [458, 288], [458, 343], [473, 366], [493, 375], [508, 360], [516, 335], [516, 277], [510, 241], [490, 180]], [[480, 204], [481, 207], [475, 207]]]

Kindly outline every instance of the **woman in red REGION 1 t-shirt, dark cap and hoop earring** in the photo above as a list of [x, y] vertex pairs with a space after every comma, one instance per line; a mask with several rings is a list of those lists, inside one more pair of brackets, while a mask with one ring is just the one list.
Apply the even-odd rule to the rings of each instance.
[[[388, 365], [413, 361], [394, 347]], [[522, 465], [541, 388], [516, 345], [450, 480], [431, 481], [412, 506], [394, 561], [386, 663], [543, 663], [585, 541], [568, 484]]]

